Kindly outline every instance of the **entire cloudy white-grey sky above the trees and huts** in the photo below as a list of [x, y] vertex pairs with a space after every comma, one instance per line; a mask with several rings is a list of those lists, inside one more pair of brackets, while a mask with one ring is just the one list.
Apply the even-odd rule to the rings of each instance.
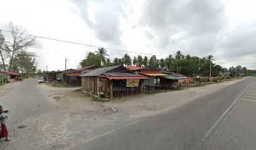
[[[32, 35], [107, 47], [110, 59], [122, 58], [124, 51], [131, 58], [143, 53], [157, 59], [181, 51], [213, 55], [214, 63], [226, 68], [256, 69], [255, 5], [253, 0], [0, 0], [0, 29], [13, 22]], [[65, 69], [65, 58], [67, 68], [77, 68], [97, 47], [36, 38], [28, 51], [36, 53], [38, 69], [56, 71]]]

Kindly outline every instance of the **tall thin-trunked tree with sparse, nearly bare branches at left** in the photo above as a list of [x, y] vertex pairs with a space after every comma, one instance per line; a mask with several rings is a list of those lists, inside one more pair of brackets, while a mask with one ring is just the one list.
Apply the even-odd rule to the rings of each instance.
[[8, 24], [11, 34], [11, 41], [6, 42], [6, 50], [11, 53], [9, 62], [9, 71], [13, 68], [13, 59], [20, 51], [26, 50], [29, 46], [35, 44], [35, 37], [28, 36], [26, 29], [21, 26], [16, 26], [13, 22]]

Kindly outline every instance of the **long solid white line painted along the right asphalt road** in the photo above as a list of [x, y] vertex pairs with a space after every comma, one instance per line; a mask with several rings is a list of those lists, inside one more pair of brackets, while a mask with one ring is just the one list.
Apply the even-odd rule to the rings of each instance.
[[211, 128], [206, 132], [205, 137], [201, 141], [205, 141], [205, 139], [211, 134], [211, 131], [213, 131], [213, 129], [216, 128], [216, 126], [220, 123], [221, 119], [223, 119], [225, 114], [227, 114], [228, 111], [230, 111], [230, 109], [232, 109], [232, 107], [235, 105], [235, 103], [238, 101], [238, 99], [242, 96], [243, 93], [245, 93], [245, 91], [247, 91], [247, 89], [251, 86], [251, 84], [249, 84], [247, 86], [247, 88], [245, 88], [245, 90], [243, 90], [243, 92], [237, 97], [237, 99], [235, 99], [235, 101], [233, 101], [233, 103], [229, 106], [229, 108], [220, 116], [220, 118], [216, 121], [216, 123], [213, 124], [213, 126], [211, 126]]

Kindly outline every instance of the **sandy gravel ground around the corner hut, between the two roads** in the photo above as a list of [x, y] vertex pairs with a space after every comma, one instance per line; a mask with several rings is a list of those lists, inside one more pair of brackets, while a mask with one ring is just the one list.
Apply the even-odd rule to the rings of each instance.
[[[40, 84], [39, 88], [46, 91], [49, 101], [57, 109], [21, 120], [19, 124], [26, 127], [9, 129], [12, 140], [5, 142], [1, 139], [0, 149], [68, 149], [112, 133], [139, 119], [157, 116], [239, 81], [241, 80], [166, 93], [127, 96], [106, 103], [92, 101], [80, 88], [53, 88]], [[11, 87], [0, 87], [1, 92], [9, 88]], [[118, 111], [107, 114], [104, 109], [110, 107]]]

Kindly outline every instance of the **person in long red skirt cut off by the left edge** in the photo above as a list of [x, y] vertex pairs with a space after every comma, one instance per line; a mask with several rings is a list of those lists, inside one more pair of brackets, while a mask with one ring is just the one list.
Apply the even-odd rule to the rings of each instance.
[[4, 113], [3, 106], [0, 106], [0, 124], [1, 124], [1, 135], [0, 138], [6, 138], [6, 141], [10, 141], [10, 138], [8, 136], [8, 130], [6, 128], [6, 119], [8, 119], [8, 116], [6, 113]]

